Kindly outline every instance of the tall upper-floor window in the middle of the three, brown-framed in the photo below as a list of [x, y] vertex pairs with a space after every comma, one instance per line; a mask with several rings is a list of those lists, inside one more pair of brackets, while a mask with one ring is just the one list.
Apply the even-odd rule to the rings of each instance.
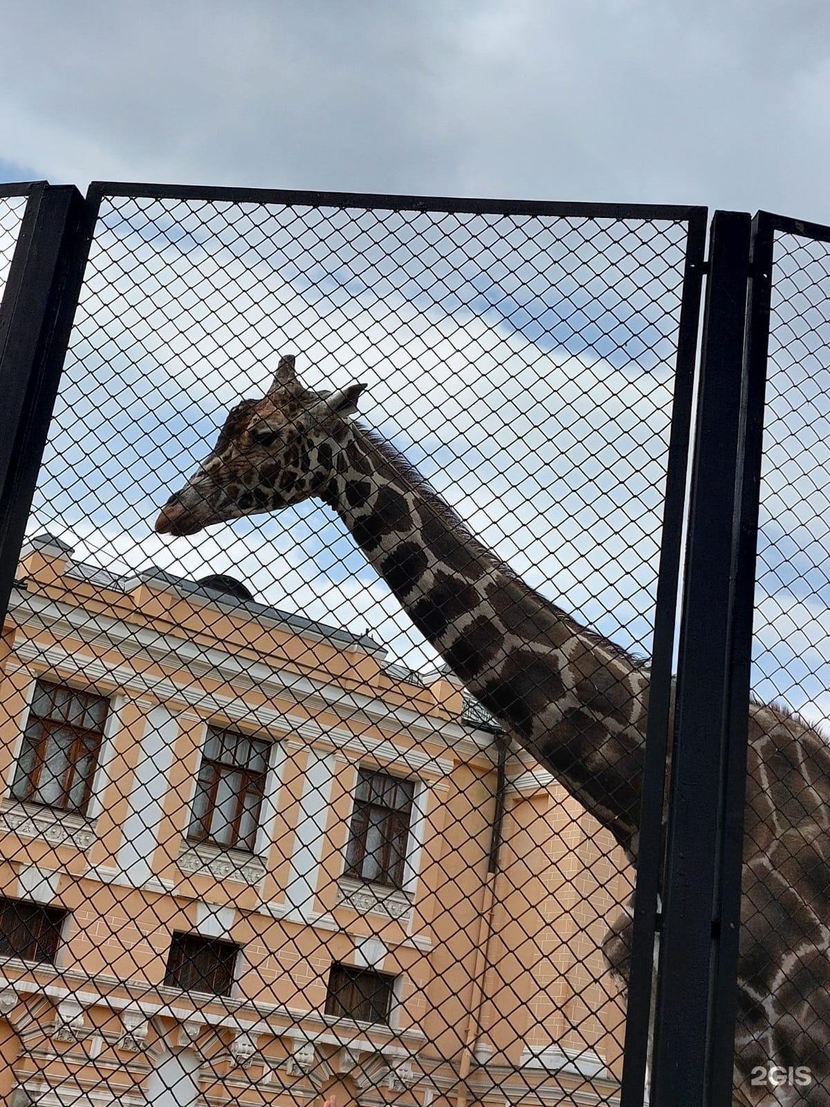
[[270, 748], [269, 742], [208, 728], [189, 841], [253, 852]]

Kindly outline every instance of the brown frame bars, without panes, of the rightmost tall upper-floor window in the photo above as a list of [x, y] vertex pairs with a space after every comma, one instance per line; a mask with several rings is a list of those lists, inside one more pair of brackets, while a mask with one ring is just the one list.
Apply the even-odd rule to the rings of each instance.
[[[387, 780], [393, 780], [395, 783], [395, 787], [408, 785], [412, 789], [408, 805], [405, 808], [397, 809], [373, 803], [371, 798], [361, 799], [360, 790], [364, 784], [367, 786], [371, 797], [372, 779], [374, 777], [384, 777]], [[416, 780], [384, 772], [383, 768], [375, 768], [374, 766], [357, 767], [357, 780], [353, 793], [352, 814], [349, 819], [349, 836], [345, 845], [345, 865], [343, 869], [344, 877], [352, 880], [359, 880], [364, 884], [376, 884], [378, 888], [392, 888], [396, 891], [404, 890], [406, 887], [406, 878], [408, 876], [407, 857], [409, 836], [412, 834], [413, 816], [416, 814]], [[366, 856], [369, 855], [366, 839], [371, 826], [372, 810], [380, 810], [384, 813], [383, 849], [380, 859], [377, 859], [377, 866], [381, 869], [381, 875], [377, 877], [366, 877], [363, 875], [363, 866], [365, 863]], [[363, 824], [360, 834], [355, 830], [355, 823], [357, 820], [361, 820]], [[391, 830], [390, 824], [392, 824]], [[400, 839], [400, 837], [404, 838], [404, 848], [400, 856], [395, 859], [395, 867], [393, 869], [391, 867], [392, 852], [395, 847], [395, 842]], [[356, 849], [356, 853], [350, 859], [353, 848]]]

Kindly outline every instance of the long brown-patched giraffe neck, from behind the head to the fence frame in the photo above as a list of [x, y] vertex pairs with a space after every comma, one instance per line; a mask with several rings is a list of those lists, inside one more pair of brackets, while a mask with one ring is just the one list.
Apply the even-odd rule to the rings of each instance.
[[473, 695], [633, 853], [644, 666], [526, 586], [393, 447], [352, 427], [324, 498]]

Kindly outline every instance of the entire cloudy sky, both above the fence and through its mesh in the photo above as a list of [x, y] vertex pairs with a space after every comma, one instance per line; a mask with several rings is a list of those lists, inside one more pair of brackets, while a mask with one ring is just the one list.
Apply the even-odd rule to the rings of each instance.
[[[79, 0], [9, 4], [3, 41], [0, 180], [702, 204], [830, 223], [823, 3]], [[484, 245], [470, 246], [464, 228], [352, 220], [351, 241], [341, 226], [314, 254], [313, 229], [273, 211], [259, 226], [146, 205], [103, 216], [33, 528], [118, 571], [236, 569], [261, 598], [370, 629], [391, 658], [428, 664], [322, 508], [200, 544], [151, 534], [159, 498], [288, 343], [311, 383], [367, 379], [364, 417], [476, 532], [546, 594], [647, 654], [676, 228], [661, 228], [644, 257], [624, 237], [591, 252], [592, 231], [574, 225], [513, 238], [478, 227]], [[7, 210], [7, 252], [13, 220]], [[373, 235], [370, 270], [355, 277]], [[407, 240], [428, 242], [452, 302], [430, 291]], [[812, 260], [821, 270], [826, 259]], [[826, 283], [819, 275], [813, 334], [830, 318]], [[793, 355], [788, 296], [770, 453], [787, 478], [771, 466], [765, 476], [757, 683], [819, 717], [830, 714], [827, 489], [816, 465], [792, 458], [807, 404], [820, 461], [817, 428], [830, 424], [810, 389], [830, 385], [830, 369], [820, 349], [807, 369]], [[788, 406], [793, 374], [803, 403]]]

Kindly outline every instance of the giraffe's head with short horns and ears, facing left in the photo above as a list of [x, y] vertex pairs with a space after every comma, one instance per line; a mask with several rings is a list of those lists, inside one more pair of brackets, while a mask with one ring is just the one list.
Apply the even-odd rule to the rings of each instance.
[[280, 358], [267, 395], [229, 412], [210, 455], [162, 508], [156, 530], [195, 535], [320, 495], [364, 387], [312, 392], [298, 381], [293, 355]]

